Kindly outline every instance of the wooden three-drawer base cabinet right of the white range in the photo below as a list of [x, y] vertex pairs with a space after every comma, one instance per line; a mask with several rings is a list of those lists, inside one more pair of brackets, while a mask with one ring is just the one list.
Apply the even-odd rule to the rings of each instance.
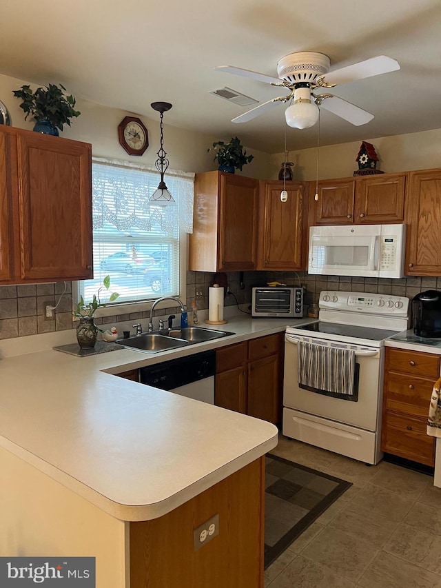
[[427, 435], [433, 383], [440, 356], [387, 347], [381, 449], [424, 465], [435, 465], [435, 438]]

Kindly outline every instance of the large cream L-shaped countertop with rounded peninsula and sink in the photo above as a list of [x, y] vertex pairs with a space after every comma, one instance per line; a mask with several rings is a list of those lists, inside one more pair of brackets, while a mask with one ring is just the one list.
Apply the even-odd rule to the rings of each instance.
[[267, 453], [278, 431], [266, 421], [111, 374], [286, 325], [286, 319], [237, 317], [220, 328], [234, 336], [161, 354], [123, 349], [79, 358], [45, 349], [3, 358], [0, 447], [115, 518], [162, 516]]

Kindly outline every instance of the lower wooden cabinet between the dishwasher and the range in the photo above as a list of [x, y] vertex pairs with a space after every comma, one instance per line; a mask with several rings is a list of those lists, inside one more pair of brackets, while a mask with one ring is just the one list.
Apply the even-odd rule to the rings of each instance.
[[283, 333], [216, 351], [215, 404], [280, 423], [283, 403]]

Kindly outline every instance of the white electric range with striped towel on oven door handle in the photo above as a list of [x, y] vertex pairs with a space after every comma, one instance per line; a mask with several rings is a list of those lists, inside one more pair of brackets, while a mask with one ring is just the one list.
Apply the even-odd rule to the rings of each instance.
[[378, 463], [384, 339], [409, 327], [409, 298], [324, 291], [319, 308], [318, 321], [285, 333], [283, 434]]

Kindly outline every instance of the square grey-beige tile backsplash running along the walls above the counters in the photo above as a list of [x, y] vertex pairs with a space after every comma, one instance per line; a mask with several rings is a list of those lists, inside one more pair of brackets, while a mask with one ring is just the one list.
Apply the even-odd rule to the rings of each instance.
[[[243, 282], [240, 277], [243, 275]], [[314, 276], [307, 272], [230, 272], [227, 274], [228, 289], [232, 294], [225, 297], [225, 306], [249, 305], [252, 287], [277, 280], [287, 285], [304, 285], [307, 288], [305, 304], [318, 302], [322, 290], [348, 292], [378, 292], [413, 298], [422, 290], [441, 290], [441, 277], [412, 278], [349, 278], [346, 276]], [[213, 284], [214, 274], [209, 272], [187, 272], [187, 307], [192, 301], [198, 310], [208, 307], [208, 288]], [[0, 339], [72, 329], [72, 284], [38, 284], [0, 286]], [[196, 293], [198, 296], [196, 296]], [[45, 317], [46, 305], [58, 304], [52, 318]], [[118, 307], [115, 307], [117, 312]], [[156, 316], [170, 314], [174, 308], [155, 310]], [[96, 319], [97, 324], [112, 325], [123, 321], [148, 318], [148, 310], [130, 314], [115, 314]]]

